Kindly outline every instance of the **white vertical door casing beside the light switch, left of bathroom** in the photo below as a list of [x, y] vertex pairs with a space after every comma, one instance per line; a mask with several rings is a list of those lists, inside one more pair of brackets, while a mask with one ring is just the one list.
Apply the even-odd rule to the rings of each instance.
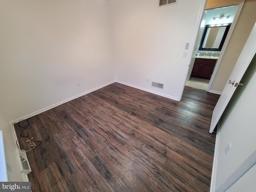
[[183, 94], [183, 91], [184, 91], [184, 88], [185, 88], [188, 72], [189, 72], [189, 69], [190, 69], [190, 63], [192, 61], [192, 54], [195, 54], [193, 50], [195, 49], [195, 46], [196, 46], [196, 39], [197, 39], [198, 32], [199, 32], [199, 29], [200, 29], [200, 26], [201, 26], [201, 22], [202, 22], [202, 19], [203, 19], [203, 16], [204, 16], [204, 10], [205, 10], [206, 3], [207, 3], [207, 0], [204, 0], [204, 1], [202, 1], [201, 5], [200, 5], [199, 13], [198, 13], [198, 16], [197, 16], [196, 28], [194, 30], [193, 40], [190, 44], [190, 51], [188, 51], [188, 55], [187, 55], [187, 58], [190, 58], [190, 59], [188, 59], [188, 63], [186, 64], [188, 66], [188, 68], [187, 68], [186, 75], [185, 75], [184, 80], [183, 80], [183, 87], [180, 90], [177, 101], [181, 100], [182, 94]]

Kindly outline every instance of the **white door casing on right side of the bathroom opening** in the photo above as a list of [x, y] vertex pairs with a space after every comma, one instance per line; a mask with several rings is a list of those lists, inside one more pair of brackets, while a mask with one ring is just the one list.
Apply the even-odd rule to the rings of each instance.
[[[237, 4], [233, 4], [233, 5], [237, 5]], [[230, 6], [232, 6], [232, 5], [230, 5]], [[216, 65], [215, 65], [215, 67], [214, 67], [214, 70], [213, 70], [213, 72], [212, 72], [212, 77], [211, 77], [211, 79], [210, 79], [208, 88], [207, 88], [207, 90], [206, 90], [207, 92], [210, 92], [210, 88], [211, 88], [212, 83], [213, 83], [213, 81], [214, 81], [214, 78], [215, 78], [215, 76], [216, 76], [216, 74], [217, 74], [218, 68], [219, 68], [219, 66], [220, 66], [220, 64], [221, 64], [221, 61], [222, 61], [222, 58], [223, 58], [223, 56], [224, 56], [224, 54], [225, 54], [226, 48], [228, 47], [228, 43], [229, 43], [230, 38], [231, 38], [231, 36], [232, 36], [232, 34], [233, 34], [233, 32], [234, 32], [234, 28], [235, 28], [235, 26], [236, 26], [236, 22], [237, 22], [237, 20], [238, 20], [238, 18], [239, 18], [239, 16], [240, 16], [240, 13], [241, 13], [241, 11], [242, 11], [243, 6], [244, 6], [244, 1], [242, 1], [242, 2], [238, 5], [238, 9], [237, 9], [236, 15], [235, 15], [235, 17], [234, 17], [234, 20], [233, 20], [231, 26], [230, 26], [230, 29], [229, 29], [229, 31], [228, 31], [228, 35], [227, 35], [226, 40], [225, 40], [225, 42], [224, 42], [224, 44], [223, 44], [223, 46], [222, 46], [222, 50], [221, 50], [221, 52], [220, 52], [220, 56], [219, 56], [219, 58], [218, 58], [218, 60], [217, 60], [217, 62], [216, 62]]]

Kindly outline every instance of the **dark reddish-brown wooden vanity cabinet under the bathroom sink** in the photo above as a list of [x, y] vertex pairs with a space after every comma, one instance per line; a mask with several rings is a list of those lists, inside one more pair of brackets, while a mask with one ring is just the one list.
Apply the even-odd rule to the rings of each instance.
[[210, 79], [216, 61], [216, 59], [196, 58], [194, 62], [194, 67], [192, 69], [191, 77]]

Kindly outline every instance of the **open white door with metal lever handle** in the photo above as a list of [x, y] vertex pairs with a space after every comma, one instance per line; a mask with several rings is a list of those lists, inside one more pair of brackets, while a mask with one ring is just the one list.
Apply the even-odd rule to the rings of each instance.
[[240, 80], [242, 79], [246, 69], [248, 68], [255, 54], [256, 54], [256, 23], [254, 24], [252, 32], [250, 33], [250, 36], [248, 37], [248, 40], [246, 41], [246, 44], [244, 45], [244, 48], [229, 77], [229, 80], [231, 82], [234, 82], [234, 84], [229, 83], [229, 80], [228, 80], [213, 110], [210, 131], [209, 131], [210, 133], [213, 132], [215, 126], [220, 120], [222, 113], [224, 112], [226, 106], [228, 105], [228, 102], [230, 101], [232, 95], [234, 94], [237, 88], [236, 83], [239, 83]]

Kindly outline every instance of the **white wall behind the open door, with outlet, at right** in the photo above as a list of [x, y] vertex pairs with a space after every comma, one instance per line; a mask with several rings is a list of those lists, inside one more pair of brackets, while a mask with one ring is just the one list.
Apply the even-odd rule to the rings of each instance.
[[[216, 190], [256, 150], [256, 56], [242, 82], [244, 86], [237, 88], [219, 123]], [[229, 142], [231, 148], [225, 155], [224, 150]]]

